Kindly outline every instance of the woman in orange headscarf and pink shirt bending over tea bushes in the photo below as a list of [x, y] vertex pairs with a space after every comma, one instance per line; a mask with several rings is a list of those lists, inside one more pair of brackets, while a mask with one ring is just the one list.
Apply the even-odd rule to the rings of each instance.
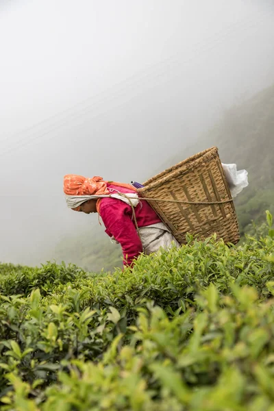
[[173, 243], [179, 247], [153, 208], [138, 198], [136, 188], [130, 184], [69, 174], [64, 176], [64, 193], [72, 210], [99, 213], [106, 234], [121, 244], [124, 266], [131, 266], [142, 252], [168, 249]]

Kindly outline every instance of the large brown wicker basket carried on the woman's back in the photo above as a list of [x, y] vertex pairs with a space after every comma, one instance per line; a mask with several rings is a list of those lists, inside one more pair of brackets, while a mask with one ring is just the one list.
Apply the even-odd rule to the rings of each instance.
[[226, 243], [238, 242], [234, 203], [216, 147], [155, 175], [144, 186], [138, 189], [140, 197], [148, 199], [180, 244], [186, 243], [186, 233], [199, 239], [216, 233]]

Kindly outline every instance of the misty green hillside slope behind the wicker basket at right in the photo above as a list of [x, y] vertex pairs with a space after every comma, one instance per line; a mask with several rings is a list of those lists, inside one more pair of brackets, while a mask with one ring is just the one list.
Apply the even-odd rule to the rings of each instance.
[[223, 163], [236, 163], [238, 170], [249, 172], [249, 187], [235, 201], [244, 234], [251, 220], [264, 219], [264, 210], [274, 211], [274, 85], [224, 112], [208, 133], [162, 164], [161, 170], [212, 146], [219, 148]]

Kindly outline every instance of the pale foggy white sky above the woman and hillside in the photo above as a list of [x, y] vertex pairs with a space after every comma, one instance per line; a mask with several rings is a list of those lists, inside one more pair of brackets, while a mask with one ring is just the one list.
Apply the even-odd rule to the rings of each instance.
[[273, 84], [273, 41], [273, 1], [0, 0], [0, 261], [97, 219], [64, 174], [142, 182]]

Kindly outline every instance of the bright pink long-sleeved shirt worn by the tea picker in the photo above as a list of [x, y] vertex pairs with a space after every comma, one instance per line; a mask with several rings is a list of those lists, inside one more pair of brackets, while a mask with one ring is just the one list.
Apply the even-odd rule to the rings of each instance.
[[[134, 190], [128, 190], [124, 187], [112, 186], [112, 184], [108, 184], [108, 188], [125, 193], [134, 192]], [[145, 200], [140, 201], [134, 210], [138, 227], [161, 222], [153, 208]], [[103, 198], [100, 204], [100, 215], [105, 225], [106, 234], [110, 237], [113, 236], [121, 244], [124, 266], [131, 265], [138, 254], [142, 252], [142, 242], [132, 218], [132, 207], [119, 199]]]

